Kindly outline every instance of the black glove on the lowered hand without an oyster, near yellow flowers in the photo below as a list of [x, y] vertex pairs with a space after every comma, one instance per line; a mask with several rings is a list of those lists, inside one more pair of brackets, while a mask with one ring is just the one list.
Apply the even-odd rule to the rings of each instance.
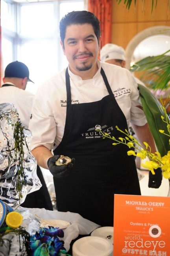
[[162, 182], [162, 170], [161, 168], [154, 169], [155, 174], [152, 174], [151, 171], [149, 171], [149, 183], [148, 187], [152, 188], [159, 188], [161, 186]]

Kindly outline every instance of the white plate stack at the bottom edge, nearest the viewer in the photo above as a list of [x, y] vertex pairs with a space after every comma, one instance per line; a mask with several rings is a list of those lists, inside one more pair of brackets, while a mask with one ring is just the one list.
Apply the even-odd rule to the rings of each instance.
[[103, 237], [85, 236], [74, 242], [72, 256], [112, 256], [113, 246]]

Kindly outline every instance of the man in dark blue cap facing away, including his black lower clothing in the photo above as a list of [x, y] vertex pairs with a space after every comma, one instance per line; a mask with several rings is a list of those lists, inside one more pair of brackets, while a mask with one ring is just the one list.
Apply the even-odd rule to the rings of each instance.
[[[29, 77], [28, 67], [20, 61], [13, 61], [7, 65], [3, 78], [4, 84], [0, 87], [0, 104], [13, 104], [17, 108], [18, 117], [26, 129], [28, 129], [35, 97], [32, 93], [25, 91], [27, 82], [33, 83]], [[21, 206], [53, 210], [50, 195], [39, 166], [37, 166], [37, 176], [41, 181], [42, 187], [28, 194]]]

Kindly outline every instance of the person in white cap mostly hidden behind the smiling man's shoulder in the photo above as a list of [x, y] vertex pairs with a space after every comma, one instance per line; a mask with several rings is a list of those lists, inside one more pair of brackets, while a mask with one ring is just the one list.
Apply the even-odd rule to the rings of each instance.
[[[103, 62], [114, 64], [122, 68], [126, 67], [125, 50], [119, 45], [106, 44], [100, 50], [100, 59]], [[133, 73], [132, 73], [133, 74]], [[137, 83], [145, 86], [145, 84], [134, 76]]]

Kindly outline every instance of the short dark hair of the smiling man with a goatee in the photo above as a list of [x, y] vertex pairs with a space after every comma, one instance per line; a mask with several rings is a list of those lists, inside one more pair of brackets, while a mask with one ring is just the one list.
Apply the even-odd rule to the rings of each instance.
[[64, 45], [64, 39], [65, 39], [65, 33], [67, 26], [70, 26], [72, 24], [85, 24], [89, 23], [93, 26], [94, 33], [99, 39], [100, 37], [100, 22], [98, 18], [94, 15], [94, 13], [91, 13], [90, 11], [71, 11], [70, 13], [67, 13], [61, 20], [59, 24], [59, 30], [60, 30], [60, 38]]

